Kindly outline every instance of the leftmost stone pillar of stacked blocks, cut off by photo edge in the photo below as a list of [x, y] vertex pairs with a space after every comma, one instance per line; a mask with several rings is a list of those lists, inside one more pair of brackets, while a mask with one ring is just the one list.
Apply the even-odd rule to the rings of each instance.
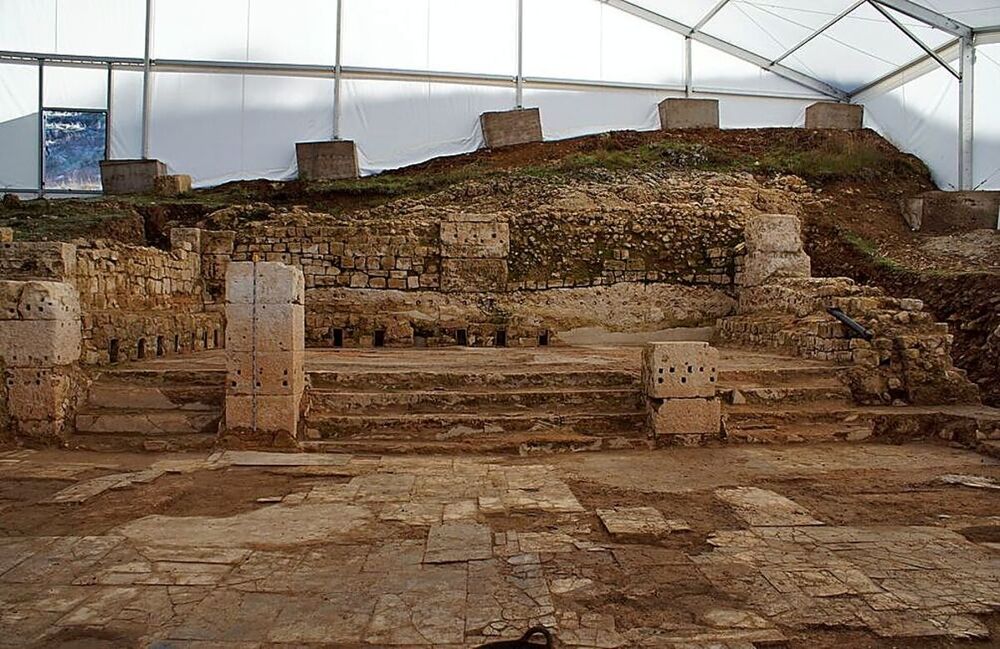
[[29, 444], [62, 444], [82, 394], [80, 298], [63, 282], [0, 281], [0, 362], [8, 426]]

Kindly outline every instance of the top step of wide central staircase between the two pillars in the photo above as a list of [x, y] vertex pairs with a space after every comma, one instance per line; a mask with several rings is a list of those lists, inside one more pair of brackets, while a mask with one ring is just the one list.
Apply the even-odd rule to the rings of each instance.
[[309, 372], [318, 390], [405, 392], [428, 389], [502, 391], [531, 388], [638, 388], [638, 370], [567, 370], [525, 372]]

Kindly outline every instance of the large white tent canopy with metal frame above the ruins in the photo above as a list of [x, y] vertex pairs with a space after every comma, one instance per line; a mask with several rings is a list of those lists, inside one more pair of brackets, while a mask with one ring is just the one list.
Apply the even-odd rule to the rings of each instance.
[[205, 186], [294, 177], [298, 141], [366, 173], [471, 151], [519, 105], [548, 139], [651, 129], [684, 95], [730, 128], [863, 103], [943, 188], [997, 189], [998, 25], [997, 0], [0, 0], [0, 190], [49, 191], [55, 107]]

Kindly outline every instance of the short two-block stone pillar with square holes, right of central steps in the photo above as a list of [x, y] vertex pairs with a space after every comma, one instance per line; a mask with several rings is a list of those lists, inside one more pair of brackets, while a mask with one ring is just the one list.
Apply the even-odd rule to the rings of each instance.
[[722, 406], [716, 397], [719, 351], [703, 342], [650, 343], [642, 355], [642, 384], [657, 444], [693, 446], [718, 438]]

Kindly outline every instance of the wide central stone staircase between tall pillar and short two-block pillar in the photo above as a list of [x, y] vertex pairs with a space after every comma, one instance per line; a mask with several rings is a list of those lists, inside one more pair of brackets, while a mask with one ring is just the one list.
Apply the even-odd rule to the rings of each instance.
[[312, 372], [307, 445], [353, 452], [645, 447], [637, 373]]

